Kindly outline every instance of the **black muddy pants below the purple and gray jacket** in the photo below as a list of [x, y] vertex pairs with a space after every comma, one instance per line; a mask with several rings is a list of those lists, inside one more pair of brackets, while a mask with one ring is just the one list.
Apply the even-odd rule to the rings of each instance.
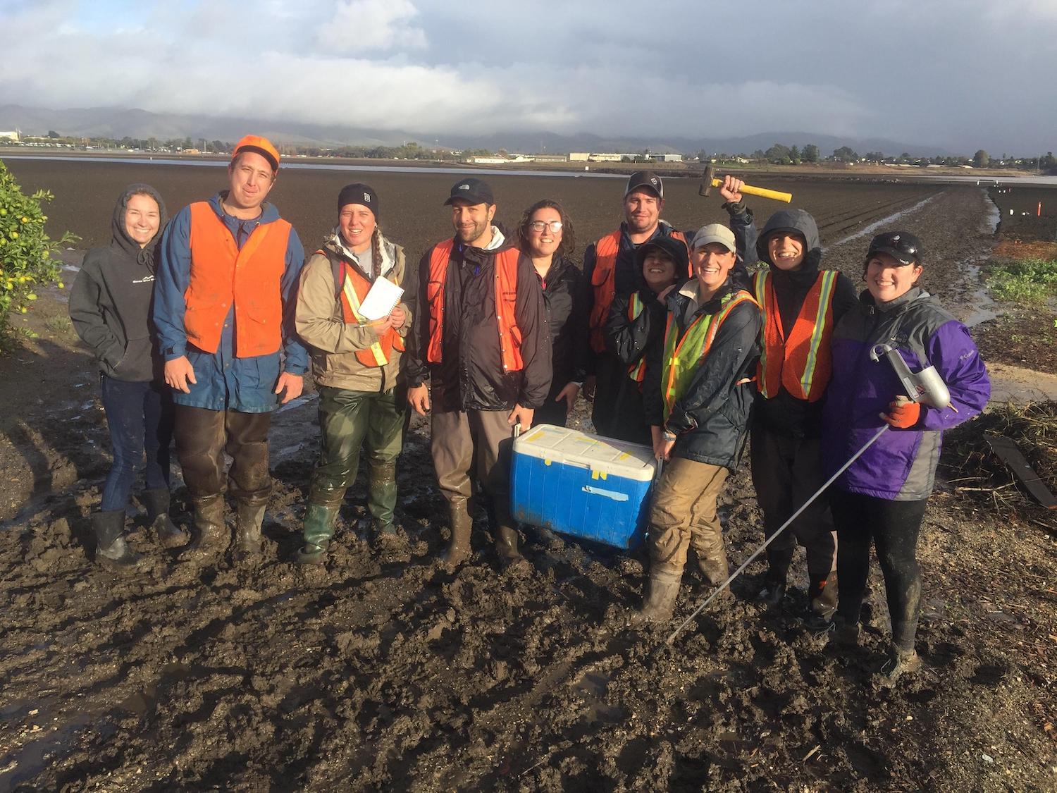
[[830, 503], [839, 538], [837, 613], [849, 622], [858, 621], [873, 545], [885, 576], [892, 642], [900, 649], [913, 649], [922, 594], [917, 535], [927, 499], [889, 501], [833, 487]]

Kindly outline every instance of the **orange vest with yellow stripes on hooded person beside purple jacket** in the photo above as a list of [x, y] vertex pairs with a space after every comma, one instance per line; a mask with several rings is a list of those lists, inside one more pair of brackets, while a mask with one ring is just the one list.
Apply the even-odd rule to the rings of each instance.
[[836, 285], [836, 271], [823, 270], [818, 274], [793, 322], [790, 337], [785, 338], [771, 273], [761, 271], [753, 277], [756, 299], [763, 307], [757, 387], [766, 399], [778, 395], [782, 387], [798, 400], [821, 399], [833, 373], [830, 337]]

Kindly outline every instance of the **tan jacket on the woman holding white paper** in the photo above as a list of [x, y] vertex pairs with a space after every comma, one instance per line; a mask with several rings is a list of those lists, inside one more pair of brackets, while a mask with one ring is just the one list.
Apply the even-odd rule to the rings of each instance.
[[[318, 386], [350, 391], [388, 391], [396, 385], [401, 353], [394, 349], [389, 363], [382, 367], [365, 366], [356, 359], [356, 350], [368, 349], [377, 340], [377, 335], [369, 327], [346, 325], [341, 303], [336, 297], [332, 261], [348, 262], [368, 277], [358, 263], [342, 252], [333, 235], [305, 262], [294, 321], [312, 356], [312, 376]], [[404, 248], [385, 237], [382, 238], [382, 275], [398, 287], [407, 285]], [[408, 312], [400, 334], [407, 336], [411, 314], [403, 301], [400, 305]]]

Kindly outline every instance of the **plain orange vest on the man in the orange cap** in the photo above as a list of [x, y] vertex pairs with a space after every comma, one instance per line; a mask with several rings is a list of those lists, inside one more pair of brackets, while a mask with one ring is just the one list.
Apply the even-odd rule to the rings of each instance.
[[191, 271], [184, 292], [187, 340], [217, 352], [224, 319], [235, 306], [235, 356], [271, 355], [282, 346], [282, 292], [291, 225], [285, 220], [258, 224], [242, 248], [235, 243], [212, 205], [198, 201], [191, 210]]

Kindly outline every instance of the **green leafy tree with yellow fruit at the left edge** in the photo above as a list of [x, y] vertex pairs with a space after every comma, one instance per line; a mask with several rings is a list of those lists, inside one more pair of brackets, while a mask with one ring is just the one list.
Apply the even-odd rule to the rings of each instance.
[[44, 234], [43, 204], [55, 197], [49, 190], [25, 196], [0, 160], [0, 347], [12, 338], [13, 313], [24, 314], [48, 283], [63, 289], [58, 253], [76, 242], [66, 232], [58, 240]]

